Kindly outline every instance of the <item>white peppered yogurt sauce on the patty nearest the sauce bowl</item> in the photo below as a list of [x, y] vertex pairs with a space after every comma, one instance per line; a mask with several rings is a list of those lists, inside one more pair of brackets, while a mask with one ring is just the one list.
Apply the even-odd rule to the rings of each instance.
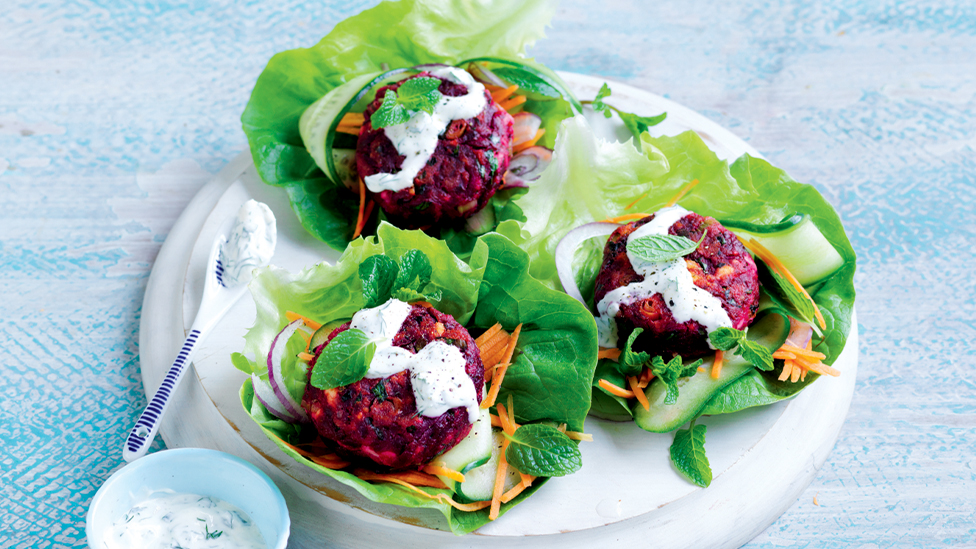
[[437, 417], [458, 406], [468, 412], [468, 421], [478, 419], [478, 396], [474, 382], [464, 370], [461, 350], [443, 341], [432, 341], [414, 354], [393, 346], [393, 338], [410, 315], [412, 305], [391, 299], [372, 309], [363, 309], [352, 317], [349, 327], [362, 330], [376, 343], [366, 377], [378, 379], [409, 370], [417, 412]]

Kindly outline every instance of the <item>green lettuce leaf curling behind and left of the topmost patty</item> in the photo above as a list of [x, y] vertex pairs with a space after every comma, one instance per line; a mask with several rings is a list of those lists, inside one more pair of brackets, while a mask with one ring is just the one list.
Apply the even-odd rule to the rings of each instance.
[[[286, 190], [312, 235], [345, 249], [355, 229], [358, 197], [326, 177], [313, 160], [299, 132], [302, 113], [342, 84], [355, 80], [361, 84], [353, 87], [361, 87], [387, 67], [456, 65], [476, 57], [528, 63], [524, 52], [544, 36], [555, 9], [554, 0], [501, 0], [483, 9], [436, 0], [383, 2], [340, 22], [310, 48], [276, 54], [241, 116], [258, 174]], [[567, 106], [561, 99], [535, 102], [533, 109], [549, 117], [544, 117], [549, 139], [552, 126], [569, 114]]]

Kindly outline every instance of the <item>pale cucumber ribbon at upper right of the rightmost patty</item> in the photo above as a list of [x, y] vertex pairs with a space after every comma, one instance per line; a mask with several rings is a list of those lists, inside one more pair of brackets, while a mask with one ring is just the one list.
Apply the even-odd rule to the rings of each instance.
[[819, 282], [844, 265], [844, 259], [806, 214], [772, 225], [722, 221], [741, 240], [755, 238], [804, 286]]

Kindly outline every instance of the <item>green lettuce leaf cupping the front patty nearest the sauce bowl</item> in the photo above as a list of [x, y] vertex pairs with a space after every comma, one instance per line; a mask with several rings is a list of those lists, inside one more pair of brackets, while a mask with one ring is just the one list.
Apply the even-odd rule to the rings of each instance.
[[[500, 322], [507, 330], [522, 324], [514, 363], [505, 375], [500, 400], [513, 395], [517, 419], [522, 423], [552, 421], [582, 430], [590, 408], [590, 381], [596, 365], [596, 326], [586, 308], [566, 294], [549, 289], [528, 274], [529, 260], [508, 239], [489, 233], [474, 244], [464, 261], [447, 245], [421, 231], [405, 231], [382, 224], [375, 237], [356, 239], [335, 265], [320, 264], [292, 274], [269, 267], [256, 271], [249, 288], [257, 306], [255, 325], [245, 335], [243, 353], [232, 357], [245, 373], [264, 374], [271, 340], [288, 323], [286, 311], [294, 311], [323, 324], [345, 320], [363, 306], [359, 265], [368, 257], [382, 254], [409, 264], [420, 250], [430, 261], [427, 290], [439, 292], [432, 304], [448, 312], [477, 335]], [[420, 269], [426, 278], [426, 268]], [[564, 344], [569, 342], [569, 345]], [[307, 379], [307, 365], [297, 358], [304, 340], [288, 342], [282, 361], [285, 385], [301, 400]], [[356, 489], [364, 497], [381, 503], [437, 509], [452, 530], [461, 534], [488, 522], [488, 513], [461, 513], [449, 505], [392, 484], [370, 484], [355, 476], [320, 467], [298, 455], [289, 444], [315, 435], [310, 425], [296, 426], [272, 416], [253, 397], [250, 379], [241, 389], [241, 403], [265, 434], [288, 455], [313, 469]], [[542, 479], [540, 479], [542, 480]], [[503, 512], [537, 489], [530, 490], [503, 506]], [[424, 488], [430, 494], [447, 490]]]

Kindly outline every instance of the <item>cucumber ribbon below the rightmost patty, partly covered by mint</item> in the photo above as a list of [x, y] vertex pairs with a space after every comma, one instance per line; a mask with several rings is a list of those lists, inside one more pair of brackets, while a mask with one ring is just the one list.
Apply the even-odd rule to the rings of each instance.
[[[766, 347], [770, 352], [778, 349], [790, 333], [790, 323], [783, 315], [770, 312], [749, 327], [749, 339]], [[634, 423], [652, 433], [667, 433], [698, 417], [708, 402], [726, 386], [753, 369], [742, 357], [725, 354], [725, 363], [718, 379], [709, 374], [710, 361], [704, 364], [705, 372], [678, 381], [678, 401], [664, 404], [667, 387], [657, 381], [651, 383], [644, 394], [650, 402], [650, 410], [637, 404]]]

